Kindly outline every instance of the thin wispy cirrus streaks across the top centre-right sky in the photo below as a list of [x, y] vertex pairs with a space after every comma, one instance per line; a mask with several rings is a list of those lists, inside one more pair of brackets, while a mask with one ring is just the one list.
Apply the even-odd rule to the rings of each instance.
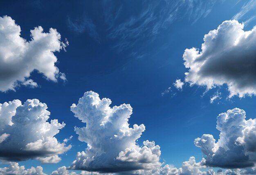
[[[188, 17], [192, 23], [198, 19], [206, 17], [216, 0], [196, 1], [143, 1], [139, 13], [130, 14], [126, 20], [119, 19], [124, 12], [121, 8], [103, 4], [106, 24], [109, 25], [108, 37], [117, 40], [114, 48], [121, 52], [127, 48], [132, 48], [142, 40], [155, 40], [161, 29], [166, 29], [168, 25], [179, 18]], [[186, 13], [184, 13], [186, 9]]]

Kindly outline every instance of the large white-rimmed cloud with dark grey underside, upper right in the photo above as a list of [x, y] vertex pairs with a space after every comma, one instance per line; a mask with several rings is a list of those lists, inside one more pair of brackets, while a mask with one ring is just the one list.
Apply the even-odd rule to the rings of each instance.
[[202, 50], [186, 49], [185, 81], [207, 89], [226, 84], [229, 97], [256, 94], [256, 27], [244, 31], [236, 20], [222, 22], [204, 36]]

